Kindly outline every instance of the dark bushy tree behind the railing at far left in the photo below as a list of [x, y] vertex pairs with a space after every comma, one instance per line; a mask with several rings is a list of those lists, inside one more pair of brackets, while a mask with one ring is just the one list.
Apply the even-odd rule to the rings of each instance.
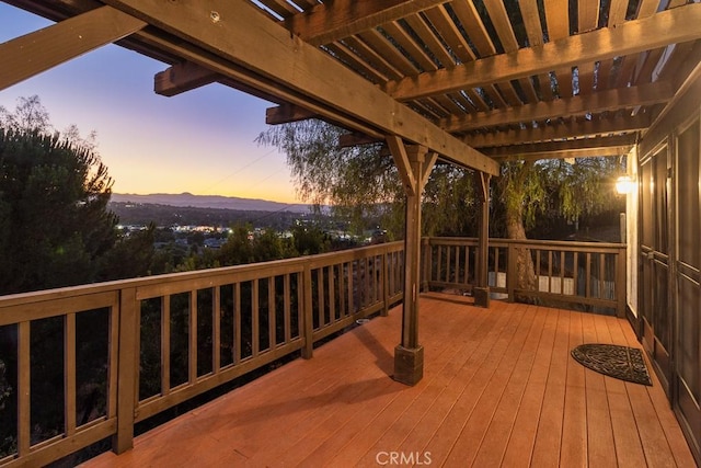
[[0, 294], [95, 281], [117, 218], [94, 145], [49, 134], [36, 96], [0, 115]]

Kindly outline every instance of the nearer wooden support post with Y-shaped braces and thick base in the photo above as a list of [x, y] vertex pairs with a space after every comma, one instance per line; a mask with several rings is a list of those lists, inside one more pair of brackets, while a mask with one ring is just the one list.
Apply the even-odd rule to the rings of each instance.
[[388, 136], [388, 146], [406, 192], [404, 233], [404, 301], [402, 341], [394, 349], [394, 380], [417, 384], [424, 376], [424, 349], [418, 344], [418, 287], [421, 286], [421, 195], [437, 155], [426, 148], [405, 147], [401, 138]]

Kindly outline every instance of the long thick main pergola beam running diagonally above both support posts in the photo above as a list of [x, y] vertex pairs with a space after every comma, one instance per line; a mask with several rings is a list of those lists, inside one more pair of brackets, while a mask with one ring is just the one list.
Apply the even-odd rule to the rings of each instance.
[[[470, 148], [403, 104], [388, 96], [332, 57], [306, 44], [261, 15], [243, 0], [166, 2], [158, 0], [105, 0], [186, 39], [219, 59], [235, 64], [264, 79], [280, 83], [334, 112], [425, 146], [445, 159], [490, 174], [498, 163]], [[323, 73], [319, 73], [323, 70]], [[364, 129], [363, 129], [364, 130]]]

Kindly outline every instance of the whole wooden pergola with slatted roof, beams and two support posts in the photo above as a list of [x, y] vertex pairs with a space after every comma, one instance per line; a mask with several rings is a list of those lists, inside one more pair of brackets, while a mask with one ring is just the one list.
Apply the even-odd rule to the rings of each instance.
[[[437, 160], [472, 169], [486, 254], [489, 178], [508, 159], [625, 155], [700, 73], [686, 0], [5, 0], [57, 23], [0, 44], [0, 89], [105, 44], [161, 60], [154, 90], [221, 82], [387, 141], [405, 185], [394, 378], [423, 373], [421, 193]], [[489, 301], [486, 269], [478, 299]]]

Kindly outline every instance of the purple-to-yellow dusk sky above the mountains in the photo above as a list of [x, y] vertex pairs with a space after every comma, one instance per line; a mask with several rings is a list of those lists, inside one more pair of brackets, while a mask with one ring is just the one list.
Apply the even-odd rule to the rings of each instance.
[[[50, 25], [0, 2], [0, 43]], [[297, 203], [285, 156], [254, 139], [273, 104], [221, 84], [173, 98], [153, 92], [166, 68], [108, 45], [0, 91], [13, 111], [38, 95], [53, 126], [97, 134], [115, 193], [227, 195]]]

